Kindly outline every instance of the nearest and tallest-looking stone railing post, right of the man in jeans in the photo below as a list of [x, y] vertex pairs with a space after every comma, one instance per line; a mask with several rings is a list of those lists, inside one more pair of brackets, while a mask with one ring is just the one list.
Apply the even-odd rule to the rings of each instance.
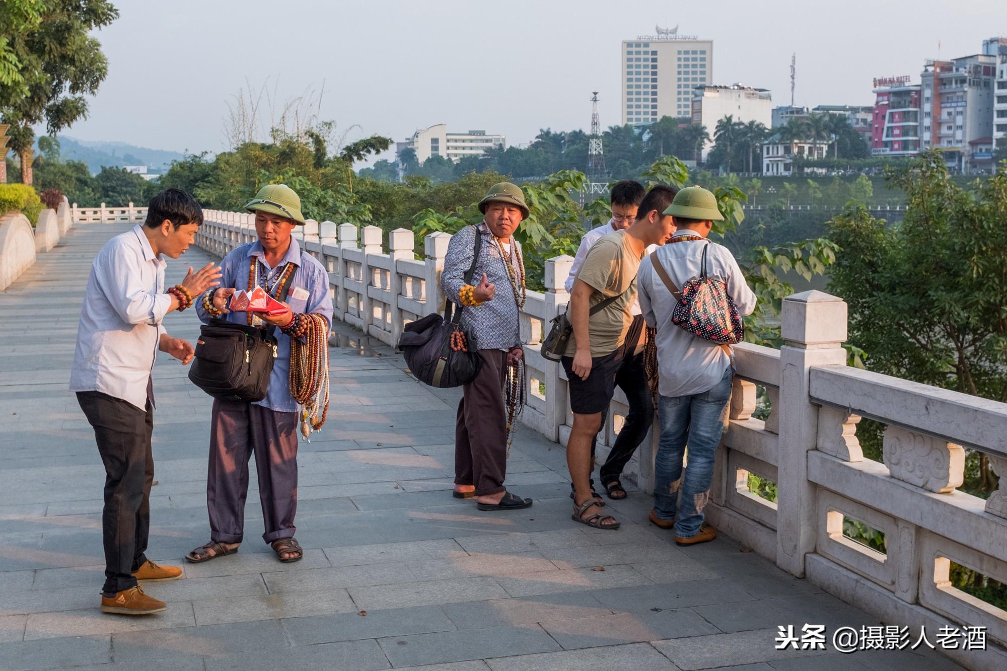
[[819, 408], [809, 397], [813, 366], [846, 364], [847, 305], [822, 291], [783, 299], [779, 349], [779, 452], [777, 456], [776, 565], [805, 574], [805, 556], [815, 551], [815, 486], [808, 481], [808, 451], [818, 440]]

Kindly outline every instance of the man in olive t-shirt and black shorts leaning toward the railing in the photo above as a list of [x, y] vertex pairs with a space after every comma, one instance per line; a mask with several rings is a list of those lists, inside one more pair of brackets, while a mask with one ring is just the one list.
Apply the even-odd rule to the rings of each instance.
[[[601, 502], [591, 494], [591, 442], [612, 399], [615, 374], [640, 344], [642, 321], [634, 321], [631, 312], [636, 270], [648, 246], [664, 245], [675, 233], [672, 218], [664, 215], [674, 195], [667, 187], [652, 188], [632, 226], [606, 235], [591, 247], [570, 293], [573, 337], [562, 363], [573, 410], [567, 442], [567, 465], [574, 485], [573, 519], [597, 529], [618, 529], [619, 523], [601, 515]], [[590, 313], [605, 300], [605, 305]], [[630, 324], [636, 327], [630, 329]]]

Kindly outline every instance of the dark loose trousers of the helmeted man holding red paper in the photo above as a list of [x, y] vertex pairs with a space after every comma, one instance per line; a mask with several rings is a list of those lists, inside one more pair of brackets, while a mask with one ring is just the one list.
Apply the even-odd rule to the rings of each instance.
[[213, 400], [209, 430], [206, 508], [209, 538], [241, 543], [249, 459], [255, 453], [267, 543], [292, 538], [297, 514], [297, 413], [241, 401]]

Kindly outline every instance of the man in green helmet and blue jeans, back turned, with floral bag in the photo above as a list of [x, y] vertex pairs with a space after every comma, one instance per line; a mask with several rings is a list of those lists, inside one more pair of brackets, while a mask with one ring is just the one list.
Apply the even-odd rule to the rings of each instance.
[[[717, 536], [703, 522], [703, 508], [731, 395], [726, 344], [740, 339], [739, 318], [751, 314], [755, 294], [730, 251], [707, 239], [713, 222], [723, 220], [712, 192], [683, 188], [665, 214], [674, 217], [676, 233], [642, 260], [637, 275], [640, 309], [656, 329], [660, 376], [661, 439], [650, 520], [674, 528], [677, 544], [693, 545]], [[689, 464], [683, 467], [687, 444]]]

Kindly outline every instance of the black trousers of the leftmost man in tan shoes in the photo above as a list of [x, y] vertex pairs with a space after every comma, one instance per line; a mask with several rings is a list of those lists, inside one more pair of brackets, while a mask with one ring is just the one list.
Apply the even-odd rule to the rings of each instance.
[[141, 410], [97, 391], [78, 392], [77, 400], [95, 429], [98, 453], [105, 464], [103, 589], [122, 591], [136, 585], [133, 572], [147, 561], [144, 552], [150, 534], [150, 486], [154, 482], [150, 450], [154, 409], [149, 400], [146, 410]]

